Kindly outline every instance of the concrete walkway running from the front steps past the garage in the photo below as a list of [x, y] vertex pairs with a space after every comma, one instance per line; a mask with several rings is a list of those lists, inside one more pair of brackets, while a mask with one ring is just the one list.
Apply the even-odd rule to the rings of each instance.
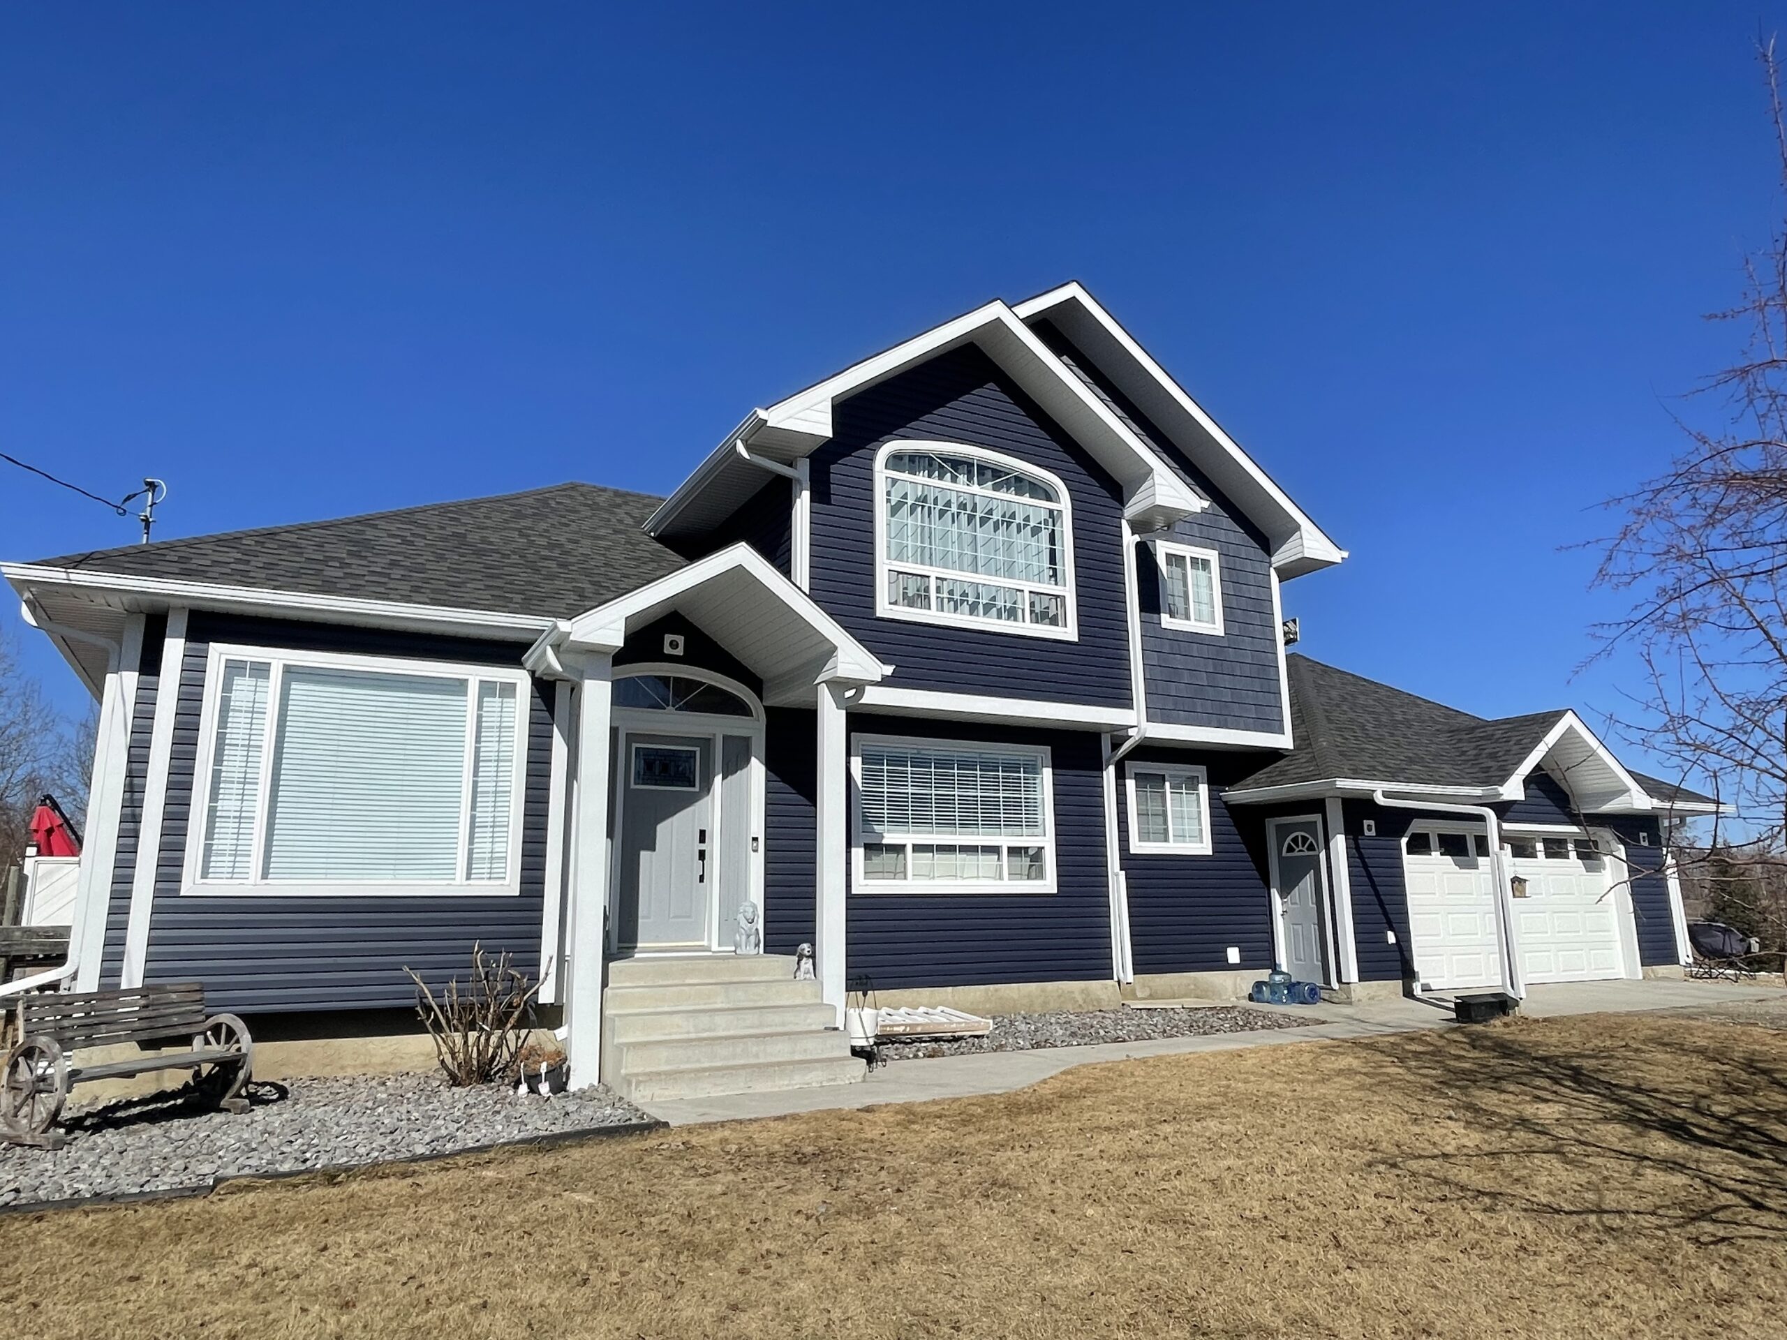
[[[1741, 1001], [1780, 999], [1780, 986], [1735, 986], [1707, 981], [1598, 981], [1533, 986], [1523, 1013], [1533, 1018], [1560, 1015], [1630, 1013], [1640, 1009], [1683, 1009]], [[1372, 1038], [1414, 1029], [1455, 1027], [1451, 1009], [1422, 1001], [1372, 1001], [1356, 1006], [1253, 1006], [1308, 1020], [1301, 1027], [1260, 1029], [1256, 1033], [1212, 1033], [1197, 1038], [1156, 1038], [1151, 1042], [1108, 1042], [1095, 1047], [1042, 1047], [1028, 1052], [977, 1052], [940, 1056], [931, 1061], [892, 1061], [870, 1070], [860, 1085], [792, 1088], [774, 1093], [733, 1093], [709, 1099], [674, 1099], [640, 1104], [652, 1117], [672, 1126], [731, 1122], [752, 1117], [786, 1117], [797, 1111], [835, 1108], [872, 1108], [881, 1102], [927, 1102], [961, 1099], [976, 1093], [1010, 1093], [1040, 1079], [1097, 1061], [1126, 1061], [1137, 1056], [1179, 1056], [1185, 1052], [1226, 1052], [1242, 1047], [1283, 1047], [1296, 1042], [1335, 1042]]]

